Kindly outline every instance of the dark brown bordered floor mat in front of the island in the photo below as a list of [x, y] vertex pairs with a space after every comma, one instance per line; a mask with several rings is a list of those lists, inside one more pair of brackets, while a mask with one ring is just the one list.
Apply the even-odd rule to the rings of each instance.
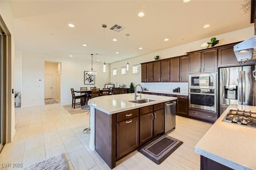
[[170, 156], [174, 150], [180, 147], [182, 143], [182, 141], [167, 135], [162, 135], [150, 143], [144, 145], [138, 149], [138, 151], [159, 165], [166, 158], [168, 158], [168, 156]]

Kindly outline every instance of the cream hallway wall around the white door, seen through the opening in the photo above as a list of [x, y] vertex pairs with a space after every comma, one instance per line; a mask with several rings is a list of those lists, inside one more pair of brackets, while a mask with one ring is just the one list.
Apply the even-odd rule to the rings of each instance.
[[58, 65], [59, 63], [44, 62], [44, 74], [52, 74], [52, 98], [58, 98]]

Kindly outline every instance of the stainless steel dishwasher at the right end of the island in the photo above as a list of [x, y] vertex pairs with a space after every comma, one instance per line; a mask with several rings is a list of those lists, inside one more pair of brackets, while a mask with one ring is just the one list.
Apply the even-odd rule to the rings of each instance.
[[164, 103], [164, 133], [175, 129], [176, 100]]

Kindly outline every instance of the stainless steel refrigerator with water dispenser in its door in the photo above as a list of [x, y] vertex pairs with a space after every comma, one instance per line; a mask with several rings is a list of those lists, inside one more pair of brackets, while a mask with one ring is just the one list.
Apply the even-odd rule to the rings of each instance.
[[220, 115], [230, 104], [256, 106], [255, 66], [220, 68]]

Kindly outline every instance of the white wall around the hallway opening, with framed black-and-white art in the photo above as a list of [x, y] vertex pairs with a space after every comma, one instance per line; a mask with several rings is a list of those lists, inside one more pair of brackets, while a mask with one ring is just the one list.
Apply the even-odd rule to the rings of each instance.
[[[22, 52], [22, 107], [44, 105], [44, 61], [61, 63], [61, 103], [72, 101], [70, 88], [80, 87], [103, 88], [110, 82], [109, 64], [108, 72], [102, 72], [102, 63], [93, 63], [93, 70], [98, 74], [95, 85], [84, 85], [84, 71], [91, 69], [90, 61], [74, 58], [38, 56], [31, 52]], [[42, 81], [38, 81], [41, 79]], [[34, 99], [34, 100], [33, 100]]]

